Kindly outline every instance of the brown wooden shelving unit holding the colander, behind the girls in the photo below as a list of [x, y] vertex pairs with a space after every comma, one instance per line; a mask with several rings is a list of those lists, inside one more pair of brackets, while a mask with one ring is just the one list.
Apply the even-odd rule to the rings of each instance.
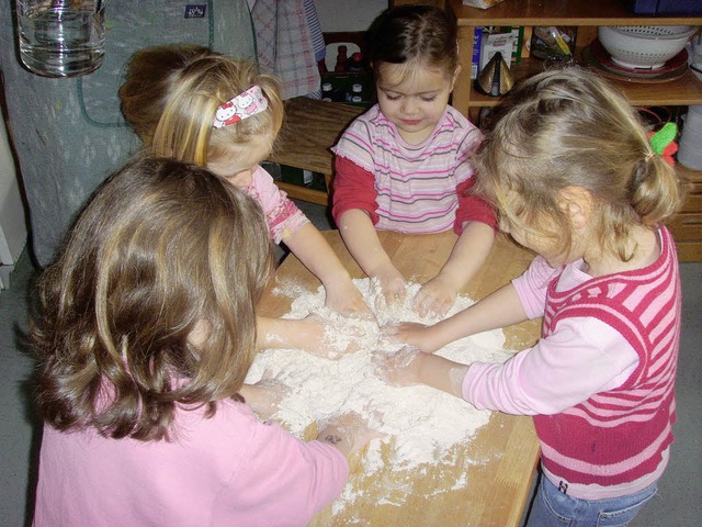
[[[498, 98], [484, 96], [473, 88], [469, 77], [474, 27], [484, 25], [562, 25], [577, 26], [575, 56], [597, 36], [598, 25], [702, 25], [702, 16], [648, 16], [629, 12], [621, 1], [597, 0], [506, 0], [489, 9], [468, 8], [461, 0], [446, 0], [458, 24], [458, 61], [452, 104], [476, 120], [484, 106], [494, 106]], [[514, 80], [543, 70], [543, 60], [524, 58], [512, 66]], [[624, 90], [637, 106], [702, 104], [702, 82], [691, 71], [679, 79], [661, 83], [636, 83], [608, 79]], [[702, 172], [678, 165], [679, 173], [690, 181], [690, 194], [683, 210], [670, 222], [681, 261], [702, 261]]]

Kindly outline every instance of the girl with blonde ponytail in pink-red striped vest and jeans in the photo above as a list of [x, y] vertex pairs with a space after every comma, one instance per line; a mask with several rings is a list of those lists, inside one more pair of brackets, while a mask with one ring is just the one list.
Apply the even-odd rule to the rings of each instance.
[[[672, 442], [680, 280], [663, 222], [682, 201], [665, 158], [675, 125], [649, 139], [629, 101], [579, 68], [526, 80], [495, 123], [474, 160], [478, 191], [539, 256], [450, 318], [388, 328], [416, 348], [387, 374], [533, 416], [542, 478], [528, 525], [625, 525], [655, 494]], [[505, 365], [431, 355], [536, 317], [541, 340]]]

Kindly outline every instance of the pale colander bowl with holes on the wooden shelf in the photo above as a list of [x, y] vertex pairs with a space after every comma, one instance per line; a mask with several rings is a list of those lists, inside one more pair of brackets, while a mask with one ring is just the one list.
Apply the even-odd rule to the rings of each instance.
[[697, 30], [691, 25], [600, 25], [597, 36], [620, 66], [658, 69], [682, 51]]

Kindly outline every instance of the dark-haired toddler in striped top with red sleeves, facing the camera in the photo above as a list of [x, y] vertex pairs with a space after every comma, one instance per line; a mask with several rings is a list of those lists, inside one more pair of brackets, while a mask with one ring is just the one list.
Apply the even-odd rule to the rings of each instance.
[[400, 5], [372, 29], [377, 104], [335, 146], [332, 215], [363, 271], [388, 304], [407, 282], [380, 244], [376, 228], [460, 235], [441, 271], [414, 304], [420, 315], [445, 314], [485, 261], [494, 240], [492, 210], [471, 195], [468, 159], [480, 132], [450, 106], [457, 65], [455, 22], [441, 9]]

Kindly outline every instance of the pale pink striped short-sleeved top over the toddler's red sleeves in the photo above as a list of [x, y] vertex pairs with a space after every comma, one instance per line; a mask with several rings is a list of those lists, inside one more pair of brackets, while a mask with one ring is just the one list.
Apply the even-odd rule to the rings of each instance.
[[351, 123], [332, 150], [373, 173], [376, 228], [430, 234], [453, 228], [456, 187], [473, 177], [467, 161], [482, 139], [461, 112], [446, 106], [433, 133], [410, 145], [376, 104]]

